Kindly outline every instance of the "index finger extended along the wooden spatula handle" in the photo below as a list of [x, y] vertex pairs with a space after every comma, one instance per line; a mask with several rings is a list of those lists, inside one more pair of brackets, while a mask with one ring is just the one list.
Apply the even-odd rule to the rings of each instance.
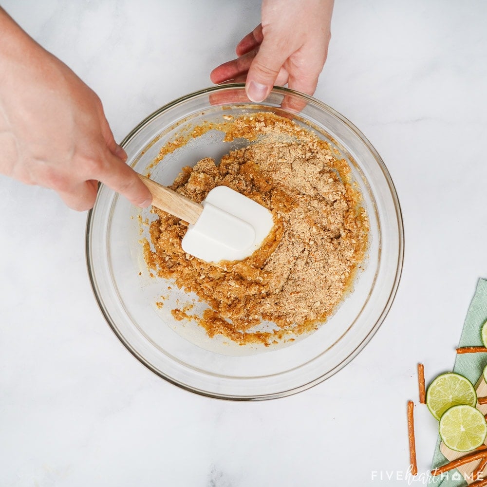
[[107, 159], [108, 164], [95, 176], [96, 179], [124, 195], [133, 205], [141, 208], [150, 206], [152, 195], [137, 173], [111, 152]]

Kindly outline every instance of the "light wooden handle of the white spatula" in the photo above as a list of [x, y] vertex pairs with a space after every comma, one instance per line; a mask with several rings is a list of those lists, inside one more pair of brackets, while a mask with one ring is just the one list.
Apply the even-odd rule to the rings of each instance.
[[162, 186], [152, 179], [139, 174], [142, 182], [149, 188], [152, 195], [152, 206], [167, 211], [185, 222], [195, 224], [203, 211], [203, 206], [168, 187]]

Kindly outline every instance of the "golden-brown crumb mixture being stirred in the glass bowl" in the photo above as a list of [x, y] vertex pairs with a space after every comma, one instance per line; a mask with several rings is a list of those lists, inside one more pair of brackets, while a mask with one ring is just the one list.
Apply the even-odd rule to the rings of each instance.
[[[201, 203], [212, 188], [231, 187], [272, 212], [271, 235], [244, 261], [214, 265], [182, 250], [186, 222], [154, 208], [155, 251], [145, 241], [144, 255], [158, 276], [211, 308], [202, 318], [174, 310], [176, 319], [196, 319], [210, 337], [268, 345], [333, 313], [364, 259], [369, 222], [348, 164], [311, 131], [271, 113], [240, 116], [219, 130], [225, 140], [255, 142], [219, 164], [205, 158], [184, 168], [171, 188]], [[279, 329], [260, 331], [262, 319]]]

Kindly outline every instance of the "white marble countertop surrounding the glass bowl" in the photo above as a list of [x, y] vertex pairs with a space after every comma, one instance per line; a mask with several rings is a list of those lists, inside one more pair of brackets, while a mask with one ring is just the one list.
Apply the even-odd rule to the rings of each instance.
[[[210, 85], [210, 70], [260, 19], [257, 0], [1, 4], [99, 94], [117, 140]], [[86, 213], [1, 177], [0, 486], [411, 484], [416, 363], [427, 380], [452, 369], [477, 279], [487, 277], [486, 16], [481, 0], [337, 1], [316, 97], [386, 162], [406, 253], [372, 341], [291, 397], [208, 399], [152, 374], [94, 300]], [[425, 407], [416, 428], [425, 472], [437, 428]]]

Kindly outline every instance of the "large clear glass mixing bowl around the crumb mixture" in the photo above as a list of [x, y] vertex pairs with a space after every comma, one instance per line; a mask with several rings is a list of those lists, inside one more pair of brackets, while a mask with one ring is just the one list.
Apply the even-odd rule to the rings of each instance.
[[[347, 119], [320, 101], [285, 88], [253, 104], [244, 85], [222, 85], [189, 94], [162, 107], [124, 139], [128, 163], [145, 173], [160, 148], [203, 122], [223, 122], [224, 115], [275, 112], [294, 118], [329, 141], [345, 157], [363, 195], [370, 219], [364, 269], [335, 314], [317, 331], [292, 344], [239, 346], [207, 337], [195, 321], [177, 321], [170, 310], [193, 297], [151, 278], [139, 243], [148, 209], [131, 206], [101, 185], [88, 215], [86, 253], [90, 279], [100, 309], [116, 336], [144, 365], [169, 382], [195, 393], [226, 399], [281, 397], [307, 389], [335, 374], [372, 338], [393, 302], [403, 262], [403, 225], [391, 177], [376, 150]], [[297, 111], [299, 113], [297, 113]], [[169, 185], [183, 166], [203, 157], [216, 160], [248, 141], [223, 141], [220, 131], [188, 137], [183, 147], [151, 169], [151, 177]], [[144, 228], [144, 227], [142, 227]], [[317, 282], [319, 286], [319, 282]], [[166, 300], [162, 308], [156, 306]], [[198, 308], [200, 306], [201, 308]], [[191, 313], [201, 312], [202, 303]], [[228, 340], [227, 340], [228, 341]]]

